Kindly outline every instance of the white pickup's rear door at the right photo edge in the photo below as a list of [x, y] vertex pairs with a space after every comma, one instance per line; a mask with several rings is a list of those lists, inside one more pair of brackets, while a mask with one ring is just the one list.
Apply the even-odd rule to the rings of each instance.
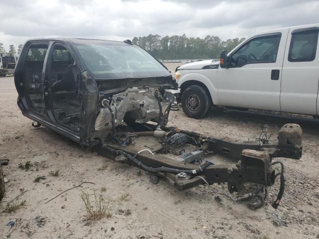
[[281, 111], [308, 115], [319, 112], [319, 24], [291, 27], [283, 65]]

